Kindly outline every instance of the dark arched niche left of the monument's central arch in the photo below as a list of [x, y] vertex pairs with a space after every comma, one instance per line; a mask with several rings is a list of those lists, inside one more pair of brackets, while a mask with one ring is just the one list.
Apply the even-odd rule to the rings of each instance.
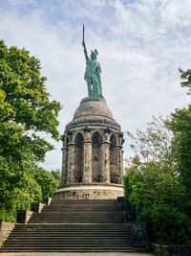
[[83, 182], [83, 141], [81, 133], [74, 139], [74, 182]]

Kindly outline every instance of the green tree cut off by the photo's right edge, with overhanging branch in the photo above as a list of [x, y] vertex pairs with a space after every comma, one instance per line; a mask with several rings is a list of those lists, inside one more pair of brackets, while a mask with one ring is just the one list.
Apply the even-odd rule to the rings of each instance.
[[[180, 69], [180, 78], [181, 86], [187, 87], [188, 94], [191, 95], [191, 70]], [[174, 134], [173, 154], [180, 181], [186, 188], [187, 203], [184, 207], [186, 206], [186, 211], [191, 217], [191, 105], [188, 105], [187, 108], [176, 109], [171, 114], [168, 128]]]

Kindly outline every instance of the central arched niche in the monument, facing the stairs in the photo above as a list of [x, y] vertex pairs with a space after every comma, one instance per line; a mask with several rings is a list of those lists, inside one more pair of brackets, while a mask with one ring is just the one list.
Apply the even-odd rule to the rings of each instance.
[[92, 135], [92, 143], [93, 143], [93, 149], [92, 149], [92, 160], [93, 160], [93, 176], [92, 180], [93, 182], [101, 182], [102, 181], [102, 175], [101, 175], [101, 151], [100, 151], [100, 144], [102, 142], [102, 137], [99, 134], [99, 132], [95, 132]]

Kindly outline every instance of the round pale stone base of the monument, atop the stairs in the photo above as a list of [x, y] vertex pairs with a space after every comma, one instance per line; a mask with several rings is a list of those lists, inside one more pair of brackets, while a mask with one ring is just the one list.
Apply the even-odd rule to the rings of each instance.
[[117, 199], [123, 197], [122, 185], [117, 184], [84, 184], [70, 185], [59, 188], [53, 199]]

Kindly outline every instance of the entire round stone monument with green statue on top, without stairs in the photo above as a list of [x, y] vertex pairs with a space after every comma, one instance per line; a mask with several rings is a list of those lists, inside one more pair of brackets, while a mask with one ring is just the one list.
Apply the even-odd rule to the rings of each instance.
[[115, 199], [123, 196], [123, 133], [102, 96], [97, 50], [86, 58], [88, 97], [62, 135], [62, 178], [53, 198]]

